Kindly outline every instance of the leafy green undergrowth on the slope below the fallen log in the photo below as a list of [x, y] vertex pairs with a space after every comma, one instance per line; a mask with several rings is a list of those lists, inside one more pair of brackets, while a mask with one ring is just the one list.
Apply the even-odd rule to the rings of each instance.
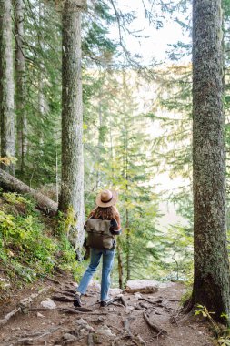
[[47, 218], [32, 198], [16, 193], [0, 192], [0, 207], [0, 290], [20, 288], [58, 269], [79, 278], [82, 265], [65, 230], [69, 218]]

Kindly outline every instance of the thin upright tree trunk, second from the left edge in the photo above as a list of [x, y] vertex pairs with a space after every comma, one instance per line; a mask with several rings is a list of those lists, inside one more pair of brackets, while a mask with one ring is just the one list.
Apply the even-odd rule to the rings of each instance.
[[27, 117], [25, 114], [25, 54], [24, 54], [24, 13], [23, 0], [15, 0], [15, 76], [17, 112], [17, 160], [21, 175], [25, 170], [27, 151]]

